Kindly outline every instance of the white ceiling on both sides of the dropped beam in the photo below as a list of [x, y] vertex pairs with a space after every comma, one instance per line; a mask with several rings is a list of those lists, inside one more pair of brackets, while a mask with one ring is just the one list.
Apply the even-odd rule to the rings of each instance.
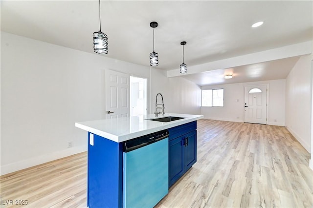
[[[1, 0], [1, 31], [94, 53], [98, 12], [97, 0]], [[201, 73], [192, 66], [312, 41], [313, 1], [102, 0], [101, 30], [108, 35], [109, 54], [98, 56], [149, 66], [151, 21], [158, 22], [158, 69], [179, 70], [180, 42], [186, 41], [183, 77], [199, 85], [284, 79], [298, 57]], [[264, 24], [252, 28], [257, 21]], [[260, 67], [260, 76], [251, 76]], [[228, 71], [237, 79], [224, 80]]]

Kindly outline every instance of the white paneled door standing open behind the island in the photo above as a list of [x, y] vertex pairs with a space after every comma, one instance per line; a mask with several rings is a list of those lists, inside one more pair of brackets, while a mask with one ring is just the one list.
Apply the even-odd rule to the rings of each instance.
[[130, 116], [130, 75], [106, 70], [106, 118]]

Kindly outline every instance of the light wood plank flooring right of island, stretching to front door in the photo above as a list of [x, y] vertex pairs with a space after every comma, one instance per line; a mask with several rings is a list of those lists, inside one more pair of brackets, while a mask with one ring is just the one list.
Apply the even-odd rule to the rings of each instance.
[[156, 207], [313, 207], [310, 154], [285, 127], [201, 120], [197, 146]]

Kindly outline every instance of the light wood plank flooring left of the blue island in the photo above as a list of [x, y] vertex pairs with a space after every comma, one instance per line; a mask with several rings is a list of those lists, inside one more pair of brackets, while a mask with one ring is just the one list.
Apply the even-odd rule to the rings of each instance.
[[3, 175], [0, 183], [1, 208], [86, 207], [87, 152]]

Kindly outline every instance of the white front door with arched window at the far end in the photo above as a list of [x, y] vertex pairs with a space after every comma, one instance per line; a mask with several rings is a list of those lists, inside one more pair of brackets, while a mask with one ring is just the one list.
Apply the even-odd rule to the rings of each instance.
[[267, 85], [245, 86], [245, 123], [266, 124]]

